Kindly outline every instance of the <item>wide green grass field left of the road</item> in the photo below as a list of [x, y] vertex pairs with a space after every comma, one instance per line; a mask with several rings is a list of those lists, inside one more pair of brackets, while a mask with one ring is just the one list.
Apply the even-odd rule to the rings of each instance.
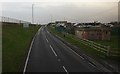
[[22, 72], [32, 37], [39, 26], [2, 26], [2, 71]]

